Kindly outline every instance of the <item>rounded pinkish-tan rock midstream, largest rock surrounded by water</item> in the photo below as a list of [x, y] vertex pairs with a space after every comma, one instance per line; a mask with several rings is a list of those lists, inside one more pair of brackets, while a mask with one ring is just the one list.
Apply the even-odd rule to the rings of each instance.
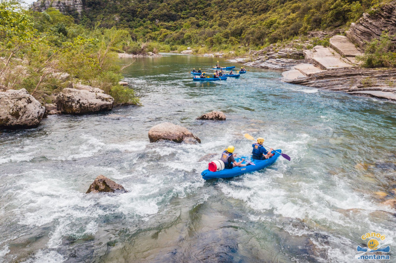
[[198, 143], [201, 142], [201, 140], [197, 136], [194, 136], [187, 128], [170, 122], [163, 122], [153, 126], [148, 131], [148, 139], [150, 143], [155, 143], [159, 140], [168, 140], [175, 143], [191, 143], [194, 140]]

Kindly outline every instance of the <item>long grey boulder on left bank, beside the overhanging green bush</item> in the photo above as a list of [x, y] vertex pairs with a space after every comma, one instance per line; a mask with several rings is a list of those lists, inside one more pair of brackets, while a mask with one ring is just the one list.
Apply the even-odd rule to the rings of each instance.
[[110, 111], [114, 99], [101, 92], [65, 88], [56, 98], [58, 111], [65, 114], [84, 114]]

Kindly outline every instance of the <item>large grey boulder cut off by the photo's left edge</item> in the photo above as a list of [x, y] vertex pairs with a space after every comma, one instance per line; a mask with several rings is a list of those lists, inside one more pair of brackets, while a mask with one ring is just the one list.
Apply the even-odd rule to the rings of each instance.
[[0, 92], [0, 127], [35, 127], [39, 125], [45, 111], [26, 89]]

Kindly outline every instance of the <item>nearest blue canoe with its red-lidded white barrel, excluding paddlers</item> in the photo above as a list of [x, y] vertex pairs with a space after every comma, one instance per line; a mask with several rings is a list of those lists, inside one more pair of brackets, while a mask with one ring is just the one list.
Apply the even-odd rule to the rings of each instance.
[[[278, 151], [278, 152], [276, 152]], [[243, 164], [253, 163], [243, 167], [234, 167], [232, 169], [224, 169], [224, 162], [220, 160], [213, 161], [209, 163], [208, 169], [204, 170], [201, 175], [204, 180], [214, 179], [214, 178], [231, 178], [236, 177], [245, 173], [251, 173], [264, 169], [267, 166], [273, 164], [278, 157], [281, 155], [282, 150], [272, 151], [274, 154], [272, 157], [265, 160], [255, 160], [250, 161], [245, 160]], [[238, 158], [238, 157], [237, 157]], [[209, 170], [210, 169], [210, 170]]]

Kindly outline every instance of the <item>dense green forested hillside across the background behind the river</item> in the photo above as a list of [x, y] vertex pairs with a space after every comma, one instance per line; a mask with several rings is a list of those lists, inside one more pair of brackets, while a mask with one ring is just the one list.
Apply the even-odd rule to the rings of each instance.
[[[127, 29], [162, 50], [262, 47], [356, 21], [382, 0], [85, 0], [81, 24]], [[241, 47], [239, 48], [241, 49]]]

